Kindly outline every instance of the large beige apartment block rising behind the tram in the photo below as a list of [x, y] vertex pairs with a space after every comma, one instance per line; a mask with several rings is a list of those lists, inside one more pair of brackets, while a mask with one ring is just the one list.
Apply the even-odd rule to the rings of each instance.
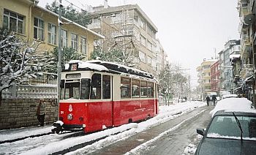
[[[94, 7], [89, 29], [105, 36], [97, 42], [103, 51], [119, 48], [139, 58], [138, 69], [157, 74], [165, 61], [164, 50], [156, 39], [157, 26], [137, 4]], [[158, 56], [162, 56], [157, 58]]]

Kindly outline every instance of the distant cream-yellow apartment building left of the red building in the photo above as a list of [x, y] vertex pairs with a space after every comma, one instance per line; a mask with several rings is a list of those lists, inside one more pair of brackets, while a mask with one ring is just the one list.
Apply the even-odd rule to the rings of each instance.
[[200, 92], [200, 98], [205, 99], [207, 93], [211, 92], [211, 65], [217, 62], [217, 59], [204, 59], [203, 62], [197, 67], [197, 90]]

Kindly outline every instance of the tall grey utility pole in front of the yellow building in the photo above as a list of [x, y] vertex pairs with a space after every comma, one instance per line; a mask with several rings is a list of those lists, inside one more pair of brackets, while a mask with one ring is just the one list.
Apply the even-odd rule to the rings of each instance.
[[[62, 4], [61, 0], [59, 0], [59, 46], [58, 46], [58, 84], [57, 84], [57, 102], [58, 102], [58, 111], [59, 111], [59, 99], [60, 99], [60, 94], [61, 94], [61, 88], [60, 88], [60, 83], [61, 83], [61, 11], [62, 11]], [[59, 120], [59, 115], [58, 115], [58, 120]]]

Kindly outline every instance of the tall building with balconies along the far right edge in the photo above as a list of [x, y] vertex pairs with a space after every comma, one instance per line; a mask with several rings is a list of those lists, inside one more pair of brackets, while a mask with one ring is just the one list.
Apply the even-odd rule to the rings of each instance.
[[241, 57], [234, 64], [240, 64], [241, 69], [235, 77], [235, 82], [238, 82], [236, 90], [240, 89], [241, 93], [255, 102], [255, 0], [238, 0], [237, 9], [240, 18]]

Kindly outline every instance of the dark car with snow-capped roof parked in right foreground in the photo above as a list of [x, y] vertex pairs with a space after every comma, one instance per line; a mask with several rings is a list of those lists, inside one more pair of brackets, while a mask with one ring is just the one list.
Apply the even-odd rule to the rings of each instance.
[[217, 111], [207, 129], [197, 133], [203, 135], [197, 155], [256, 154], [256, 113]]

